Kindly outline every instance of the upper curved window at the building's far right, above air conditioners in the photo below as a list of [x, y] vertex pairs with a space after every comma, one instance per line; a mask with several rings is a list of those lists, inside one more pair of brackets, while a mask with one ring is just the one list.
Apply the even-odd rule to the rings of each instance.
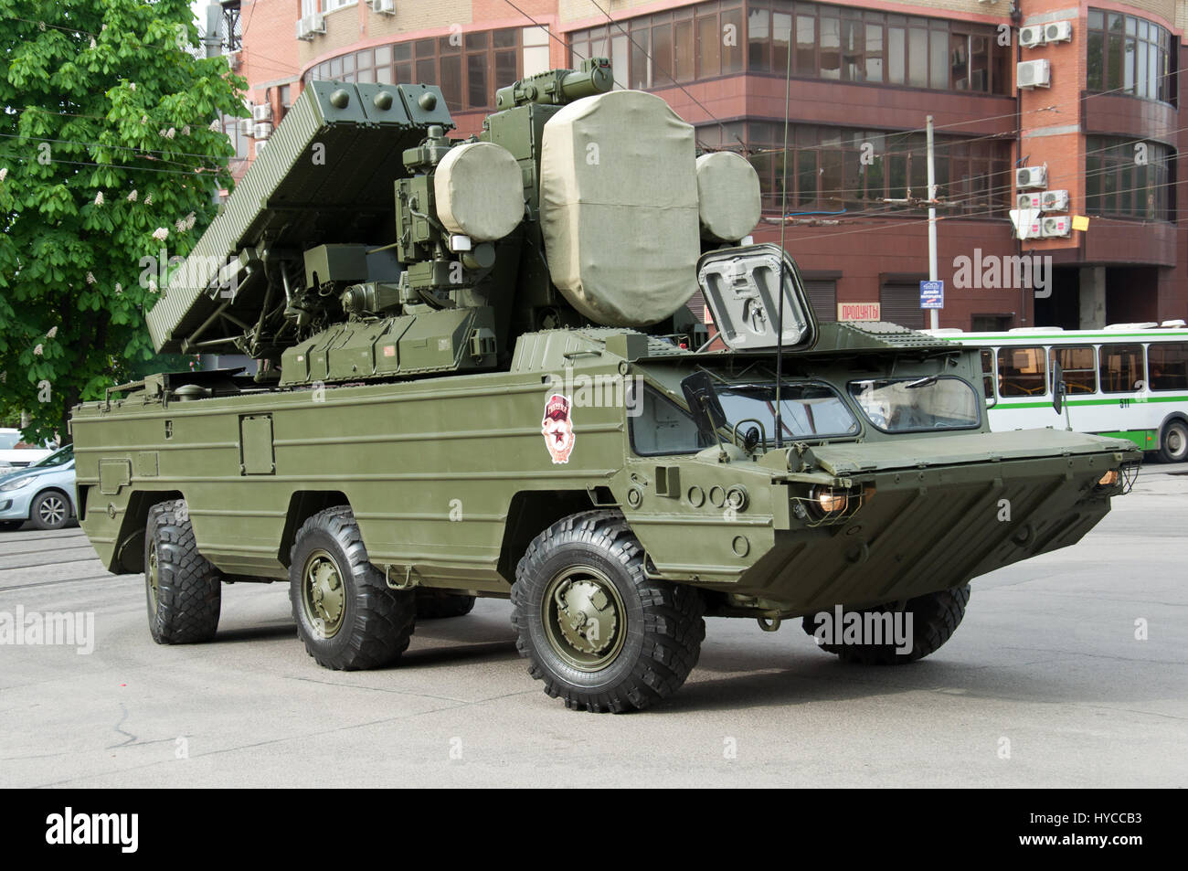
[[1086, 88], [1175, 102], [1171, 33], [1133, 15], [1089, 10]]

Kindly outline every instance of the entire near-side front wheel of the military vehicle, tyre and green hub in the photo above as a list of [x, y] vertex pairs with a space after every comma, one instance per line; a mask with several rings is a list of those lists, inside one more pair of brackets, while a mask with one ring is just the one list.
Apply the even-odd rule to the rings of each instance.
[[516, 568], [512, 625], [529, 674], [573, 711], [643, 709], [675, 693], [706, 637], [701, 593], [649, 579], [617, 511], [567, 517]]

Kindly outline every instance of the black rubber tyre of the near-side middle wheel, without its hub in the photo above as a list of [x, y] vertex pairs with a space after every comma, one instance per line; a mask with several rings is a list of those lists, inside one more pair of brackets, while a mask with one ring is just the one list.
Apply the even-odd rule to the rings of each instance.
[[[302, 604], [302, 573], [314, 550], [336, 563], [345, 587], [342, 625], [324, 637]], [[409, 648], [417, 619], [412, 591], [387, 586], [367, 558], [349, 505], [326, 509], [302, 524], [289, 551], [289, 600], [297, 635], [318, 665], [340, 671], [383, 668]]]

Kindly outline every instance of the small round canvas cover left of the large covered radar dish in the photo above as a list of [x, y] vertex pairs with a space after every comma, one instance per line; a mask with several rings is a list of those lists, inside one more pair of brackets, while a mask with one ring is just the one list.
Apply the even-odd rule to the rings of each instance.
[[524, 219], [519, 164], [501, 145], [468, 143], [442, 158], [434, 175], [437, 217], [450, 232], [493, 242]]

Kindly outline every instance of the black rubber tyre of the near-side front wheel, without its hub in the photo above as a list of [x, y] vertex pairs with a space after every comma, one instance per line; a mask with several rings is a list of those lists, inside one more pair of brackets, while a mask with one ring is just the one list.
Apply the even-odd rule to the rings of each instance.
[[[644, 549], [618, 511], [573, 515], [538, 535], [516, 568], [512, 625], [527, 671], [571, 711], [623, 713], [672, 695], [684, 683], [706, 637], [704, 601], [694, 587], [651, 580]], [[573, 566], [599, 569], [621, 597], [623, 648], [604, 668], [583, 671], [550, 645], [542, 616], [550, 581]]]

